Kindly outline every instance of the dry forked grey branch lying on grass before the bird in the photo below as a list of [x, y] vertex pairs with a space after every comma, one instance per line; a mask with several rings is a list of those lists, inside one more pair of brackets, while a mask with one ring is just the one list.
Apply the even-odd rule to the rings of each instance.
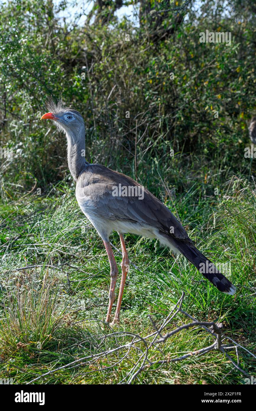
[[[175, 363], [175, 362], [182, 361], [182, 360], [185, 360], [191, 357], [198, 357], [205, 353], [208, 353], [209, 351], [217, 350], [217, 352], [223, 353], [224, 356], [228, 358], [228, 362], [230, 362], [233, 365], [233, 368], [224, 376], [224, 378], [227, 375], [231, 374], [231, 372], [233, 372], [235, 369], [240, 371], [242, 374], [250, 377], [250, 375], [246, 371], [244, 371], [244, 369], [240, 367], [238, 350], [239, 349], [245, 350], [247, 353], [249, 353], [252, 357], [255, 358], [254, 354], [251, 353], [246, 348], [244, 348], [243, 346], [241, 346], [240, 344], [236, 343], [231, 338], [223, 335], [223, 325], [221, 323], [215, 323], [214, 321], [211, 321], [211, 322], [197, 321], [190, 314], [186, 313], [182, 309], [182, 303], [183, 303], [184, 298], [185, 298], [185, 293], [182, 292], [182, 296], [180, 297], [178, 302], [175, 304], [175, 306], [171, 309], [171, 312], [164, 319], [164, 321], [162, 322], [160, 326], [157, 327], [155, 321], [153, 321], [152, 318], [149, 316], [149, 319], [152, 323], [152, 327], [154, 328], [154, 332], [150, 333], [149, 335], [146, 335], [145, 337], [141, 337], [140, 335], [136, 335], [132, 332], [127, 332], [127, 331], [117, 331], [117, 332], [111, 332], [109, 334], [105, 333], [104, 335], [94, 335], [94, 339], [98, 340], [99, 343], [93, 343], [93, 344], [90, 343], [90, 355], [82, 357], [82, 358], [78, 358], [72, 361], [71, 363], [68, 363], [66, 365], [62, 365], [61, 367], [57, 367], [55, 369], [49, 370], [48, 372], [42, 375], [39, 375], [36, 378], [30, 380], [27, 384], [34, 383], [35, 381], [42, 379], [49, 374], [53, 374], [55, 372], [58, 372], [66, 368], [72, 369], [76, 367], [82, 367], [82, 366], [84, 367], [85, 365], [87, 365], [89, 368], [89, 366], [92, 367], [92, 364], [94, 365], [98, 364], [99, 360], [106, 361], [106, 359], [108, 360], [108, 362], [110, 362], [111, 355], [115, 353], [118, 354], [118, 360], [116, 359], [115, 356], [113, 356], [113, 362], [109, 366], [95, 367], [94, 369], [90, 367], [90, 370], [85, 371], [84, 374], [90, 374], [92, 372], [108, 372], [111, 369], [113, 370], [113, 367], [116, 367], [117, 365], [120, 366], [123, 361], [126, 361], [126, 363], [128, 363], [129, 361], [131, 362], [132, 366], [127, 372], [127, 374], [122, 378], [122, 380], [118, 382], [118, 384], [123, 384], [123, 383], [131, 384], [136, 379], [138, 374], [140, 374], [142, 371], [149, 372], [150, 369], [151, 371], [153, 370], [155, 371], [155, 369], [152, 368], [153, 365], [159, 365], [159, 367], [161, 367], [164, 364]], [[168, 324], [170, 324], [171, 320], [175, 318], [179, 313], [184, 314], [192, 321], [190, 323], [183, 324], [180, 327], [176, 327], [175, 329], [168, 331], [165, 335], [162, 335], [163, 329]], [[99, 322], [100, 320], [85, 319], [82, 321]], [[101, 322], [104, 323], [104, 321], [101, 321]], [[76, 322], [74, 322], [74, 324], [75, 323]], [[189, 332], [191, 328], [195, 328], [195, 327], [202, 328], [206, 332], [210, 333], [212, 337], [214, 338], [213, 343], [201, 349], [197, 349], [194, 351], [187, 351], [186, 353], [184, 353], [184, 355], [180, 357], [171, 357], [172, 353], [168, 353], [167, 358], [157, 359], [154, 361], [150, 359], [149, 353], [152, 353], [152, 356], [155, 357], [155, 351], [152, 351], [152, 350], [157, 349], [157, 351], [163, 354], [163, 351], [160, 349], [162, 343], [166, 342], [166, 340], [170, 339], [173, 335], [177, 334], [178, 332], [183, 332], [184, 330], [187, 330], [187, 332]], [[106, 330], [113, 331], [109, 326], [106, 328]], [[122, 344], [118, 346], [118, 337], [121, 337], [121, 339], [125, 337], [131, 337], [131, 341], [127, 342], [126, 344]], [[112, 339], [114, 339], [116, 346], [115, 348], [108, 349], [107, 348], [108, 341], [111, 341]], [[223, 344], [223, 341], [225, 339], [230, 339], [233, 342], [233, 346], [228, 346], [228, 345]], [[99, 350], [101, 346], [105, 347], [104, 351], [97, 352], [97, 350]], [[236, 351], [237, 362], [235, 362], [235, 360], [233, 360], [233, 358], [226, 352], [226, 350], [234, 349], [234, 348]], [[124, 350], [125, 350], [125, 353], [119, 356], [119, 353], [122, 353], [122, 351]], [[133, 357], [132, 357], [132, 353], [134, 353], [134, 350], [136, 353], [138, 353], [138, 359], [136, 360], [136, 362], [134, 362]], [[159, 367], [157, 367], [157, 369], [159, 369]]]

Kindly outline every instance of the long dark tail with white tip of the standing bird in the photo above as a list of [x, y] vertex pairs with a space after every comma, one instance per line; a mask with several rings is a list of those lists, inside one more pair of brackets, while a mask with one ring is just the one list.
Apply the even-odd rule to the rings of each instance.
[[235, 286], [193, 244], [176, 239], [172, 243], [219, 291], [235, 293]]

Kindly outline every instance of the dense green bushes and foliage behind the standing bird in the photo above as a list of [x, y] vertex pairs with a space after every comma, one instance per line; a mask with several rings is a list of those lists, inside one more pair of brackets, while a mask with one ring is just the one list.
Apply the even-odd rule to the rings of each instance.
[[[254, 6], [151, 0], [141, 2], [136, 24], [115, 16], [128, 3], [95, 2], [83, 24], [79, 15], [58, 17], [67, 2], [0, 6], [0, 136], [14, 156], [2, 164], [3, 199], [16, 196], [9, 182], [46, 192], [66, 175], [65, 138], [39, 121], [46, 96], [60, 93], [84, 115], [91, 162], [141, 181], [140, 171], [168, 162], [170, 184], [175, 156], [183, 165], [194, 154], [198, 167], [251, 167], [244, 147], [256, 111]], [[231, 45], [200, 43], [205, 30], [231, 32]]]

